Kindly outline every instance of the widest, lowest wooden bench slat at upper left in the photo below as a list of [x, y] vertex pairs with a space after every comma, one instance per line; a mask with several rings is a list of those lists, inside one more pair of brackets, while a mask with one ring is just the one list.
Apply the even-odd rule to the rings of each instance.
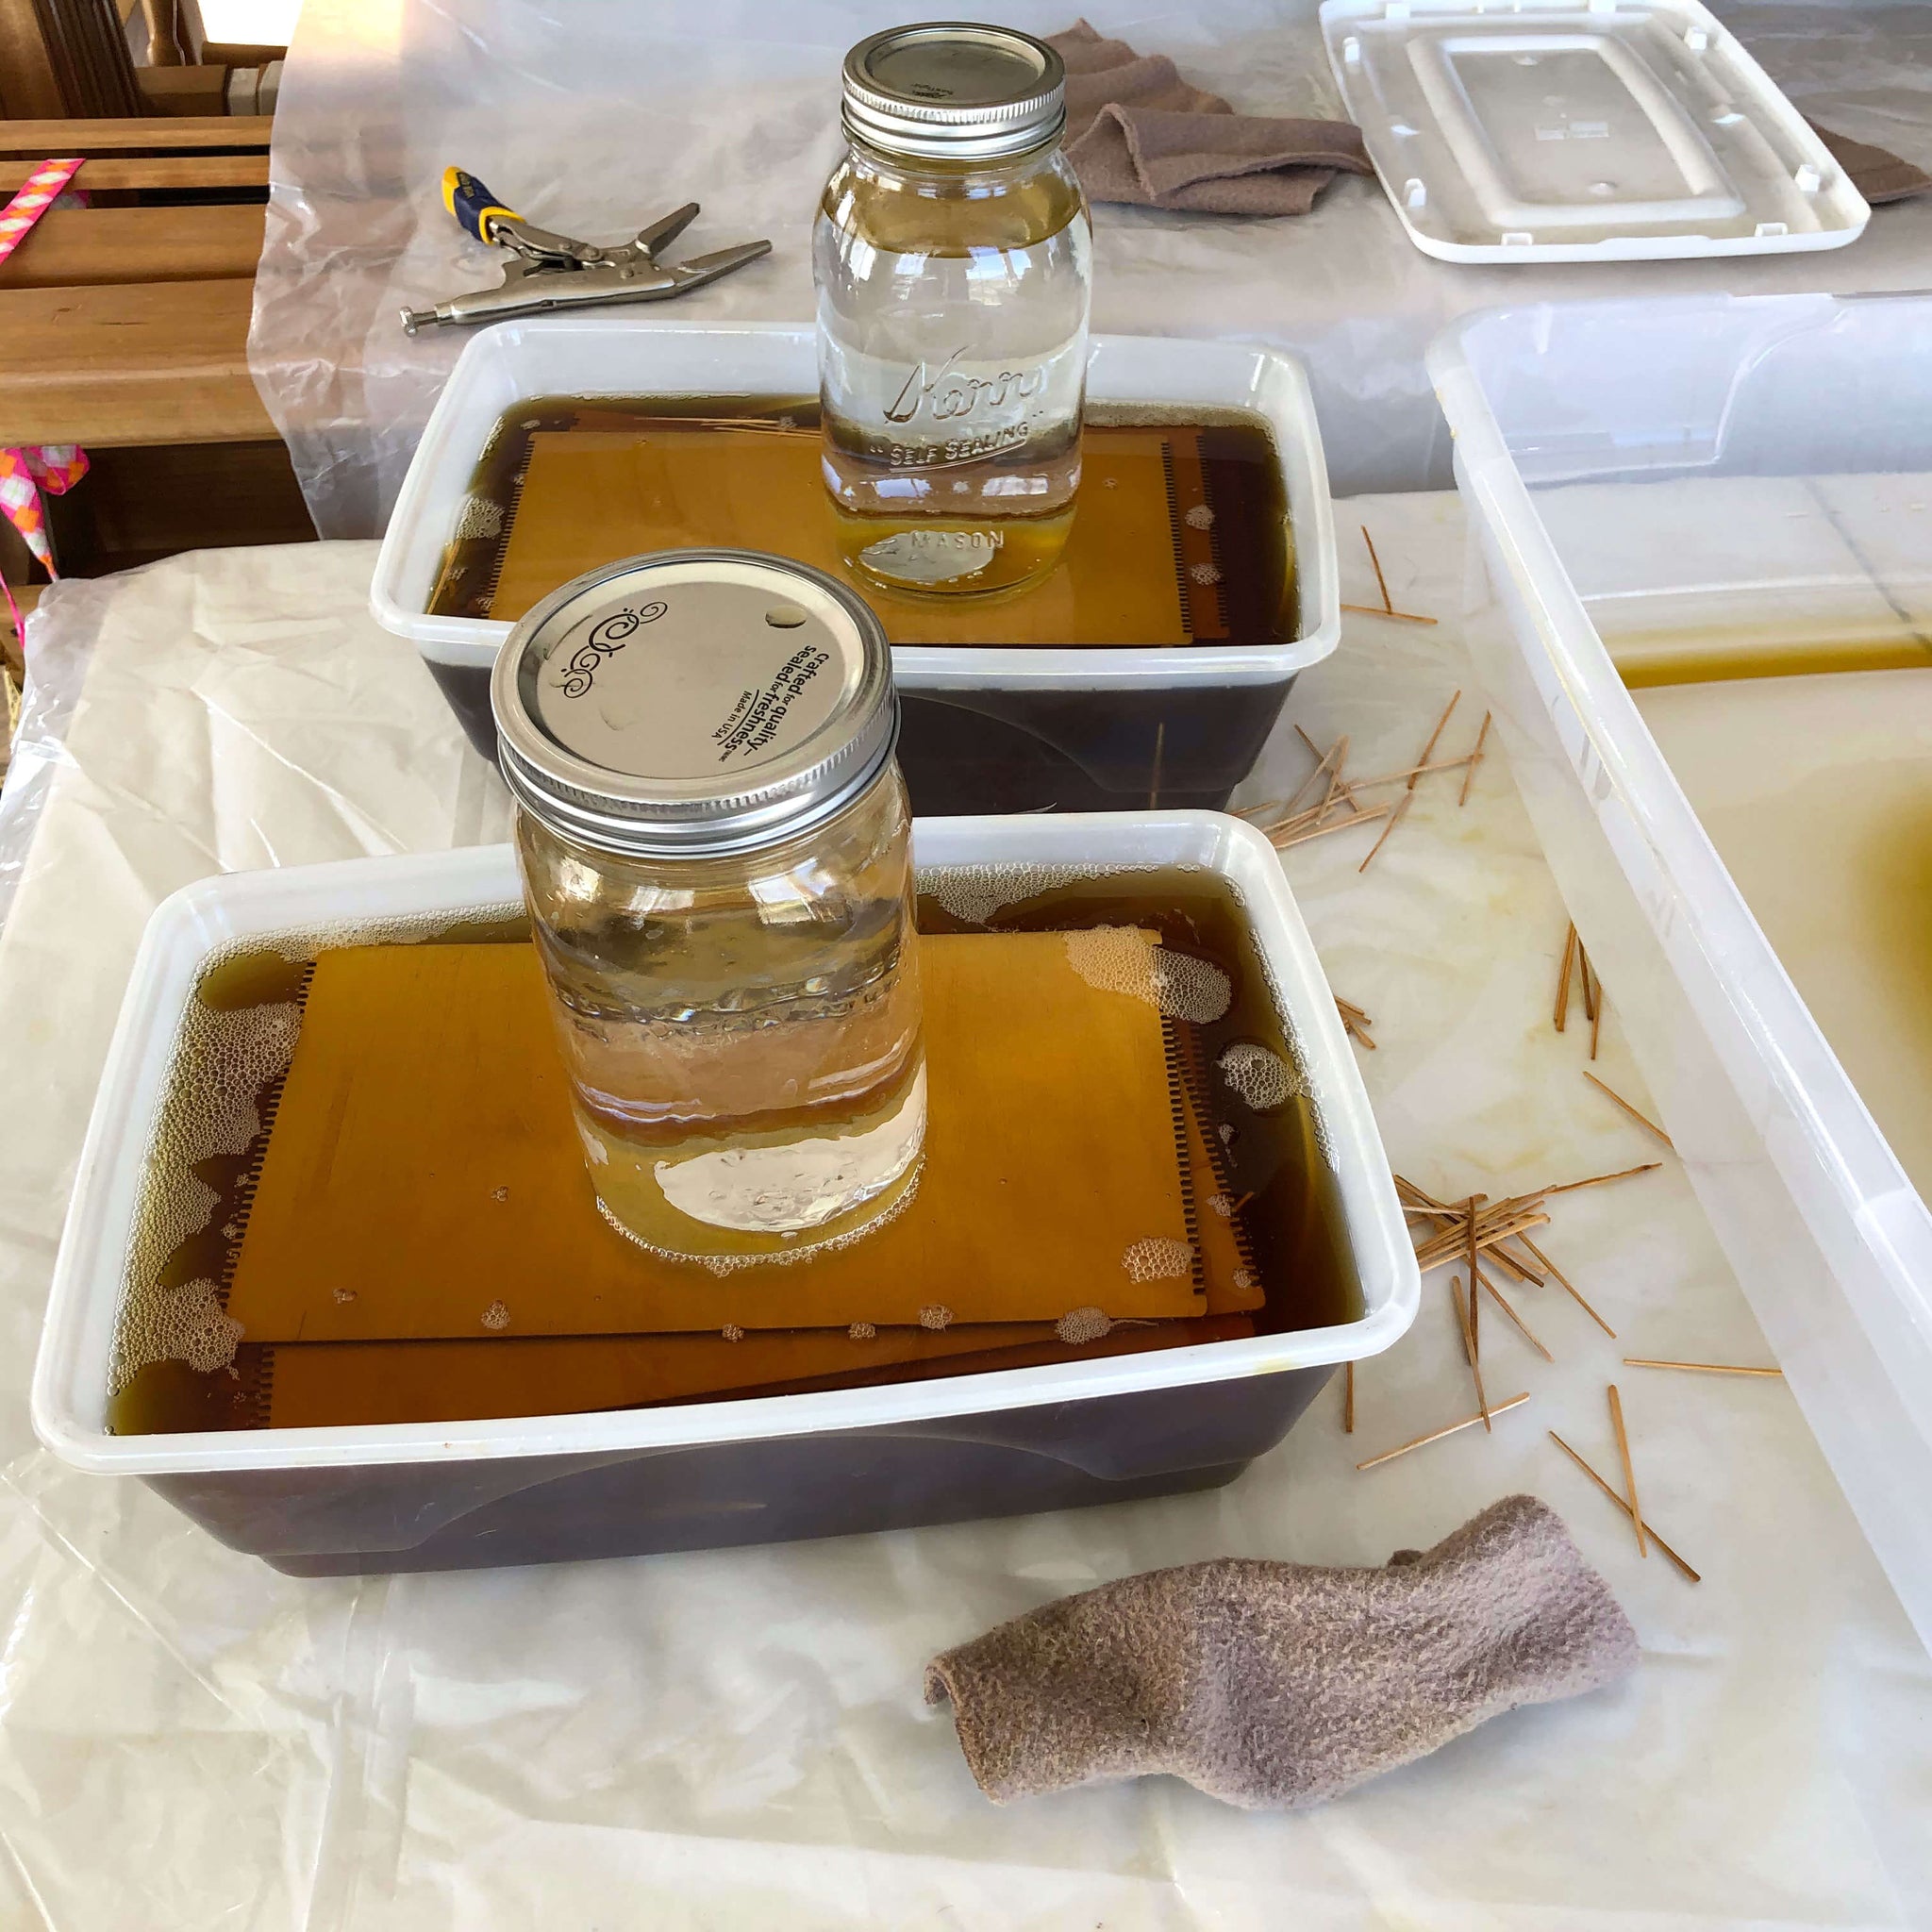
[[0, 290], [0, 446], [257, 442], [253, 282]]

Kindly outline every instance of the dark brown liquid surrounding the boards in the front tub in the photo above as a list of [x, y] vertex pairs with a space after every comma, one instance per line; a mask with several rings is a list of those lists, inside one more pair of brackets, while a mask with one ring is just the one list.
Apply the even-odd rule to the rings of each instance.
[[[960, 867], [922, 877], [920, 929], [927, 933], [1121, 925], [1153, 931], [1173, 952], [1213, 962], [1233, 985], [1225, 1014], [1208, 1024], [1173, 1024], [1171, 1034], [1179, 1074], [1204, 1128], [1213, 1126], [1219, 1150], [1213, 1192], [1200, 1204], [1202, 1219], [1217, 1215], [1213, 1196], [1221, 1198], [1221, 1206], [1238, 1202], [1233, 1219], [1217, 1221], [1213, 1238], [1233, 1235], [1240, 1242], [1240, 1258], [1258, 1277], [1256, 1294], [1242, 1296], [1252, 1304], [1244, 1312], [1140, 1327], [1117, 1325], [1084, 1345], [1061, 1341], [1043, 1325], [976, 1327], [970, 1318], [935, 1333], [883, 1331], [885, 1343], [852, 1341], [842, 1329], [761, 1331], [740, 1345], [699, 1335], [500, 1335], [448, 1343], [270, 1345], [242, 1335], [234, 1358], [207, 1374], [184, 1362], [141, 1368], [110, 1405], [110, 1426], [120, 1434], [145, 1434], [265, 1428], [286, 1420], [327, 1422], [350, 1414], [354, 1420], [452, 1420], [471, 1414], [634, 1406], [630, 1399], [611, 1391], [622, 1391], [626, 1376], [636, 1374], [639, 1364], [670, 1354], [690, 1360], [705, 1349], [711, 1350], [713, 1364], [732, 1364], [734, 1378], [728, 1379], [742, 1374], [742, 1381], [721, 1387], [715, 1372], [699, 1374], [696, 1393], [682, 1399], [755, 1397], [968, 1374], [1352, 1320], [1360, 1314], [1360, 1293], [1343, 1233], [1335, 1177], [1321, 1151], [1314, 1109], [1293, 1078], [1296, 1057], [1248, 939], [1246, 918], [1225, 881], [1182, 869], [1066, 881], [1051, 873], [1028, 877], [1018, 871]], [[384, 937], [390, 935], [332, 935], [328, 943]], [[423, 943], [522, 937], [522, 927], [514, 923], [471, 922], [429, 935]], [[286, 951], [303, 949], [296, 943]], [[286, 958], [282, 951], [240, 954], [209, 972], [201, 997], [224, 1010], [299, 999], [303, 976], [305, 964]], [[178, 1076], [184, 1070], [178, 1068]], [[267, 1082], [257, 1095], [269, 1115], [272, 1088], [274, 1082]], [[1264, 1101], [1260, 1111], [1246, 1105], [1240, 1092]], [[1206, 1144], [1206, 1132], [1198, 1136], [1198, 1144]], [[216, 1206], [205, 1229], [176, 1242], [160, 1271], [162, 1285], [228, 1279], [236, 1235], [245, 1225], [265, 1146], [267, 1132], [245, 1153], [199, 1163], [197, 1177], [213, 1190]], [[761, 1273], [775, 1279], [784, 1271]], [[887, 1345], [895, 1360], [869, 1360], [867, 1350], [877, 1356]], [[477, 1350], [489, 1350], [485, 1385], [497, 1395], [487, 1408], [477, 1406]], [[742, 1364], [742, 1372], [736, 1364]], [[653, 1370], [645, 1381], [672, 1391], [661, 1399], [680, 1399], [678, 1374], [682, 1370], [667, 1381]], [[383, 1383], [381, 1412], [375, 1416], [369, 1414], [371, 1378]], [[551, 1391], [562, 1379], [576, 1393], [570, 1401], [520, 1405], [518, 1389], [526, 1379], [531, 1387]], [[278, 1387], [284, 1391], [284, 1406], [299, 1408], [298, 1414], [278, 1416]]]

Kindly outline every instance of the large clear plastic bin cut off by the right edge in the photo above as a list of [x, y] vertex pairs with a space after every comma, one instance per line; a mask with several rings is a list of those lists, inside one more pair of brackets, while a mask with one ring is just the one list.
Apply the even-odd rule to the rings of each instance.
[[1517, 782], [1752, 1310], [1932, 1640], [1932, 1213], [1611, 661], [1718, 614], [1793, 612], [1917, 636], [1932, 661], [1932, 298], [1503, 309], [1430, 367]]

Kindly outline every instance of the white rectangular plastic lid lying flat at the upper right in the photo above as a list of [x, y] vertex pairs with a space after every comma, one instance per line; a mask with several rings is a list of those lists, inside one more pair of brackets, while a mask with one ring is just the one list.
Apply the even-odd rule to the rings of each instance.
[[1325, 0], [1350, 120], [1441, 261], [1843, 247], [1870, 209], [1696, 0]]

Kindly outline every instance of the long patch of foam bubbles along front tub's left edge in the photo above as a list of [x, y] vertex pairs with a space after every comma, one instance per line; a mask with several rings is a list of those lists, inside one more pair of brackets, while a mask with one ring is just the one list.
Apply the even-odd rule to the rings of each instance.
[[128, 1254], [122, 1316], [108, 1362], [118, 1395], [153, 1362], [185, 1362], [211, 1374], [234, 1360], [242, 1323], [220, 1306], [213, 1281], [162, 1287], [168, 1256], [209, 1225], [220, 1196], [195, 1173], [199, 1161], [245, 1153], [261, 1132], [257, 1095], [288, 1072], [301, 1032], [294, 1003], [214, 1012], [189, 1001], [170, 1080], [155, 1121], [143, 1200]]

